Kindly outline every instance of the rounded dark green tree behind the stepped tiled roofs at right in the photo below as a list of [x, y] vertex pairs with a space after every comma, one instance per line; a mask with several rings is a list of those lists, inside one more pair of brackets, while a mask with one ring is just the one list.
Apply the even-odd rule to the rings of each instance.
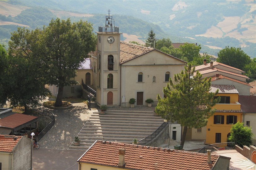
[[250, 57], [241, 48], [229, 46], [219, 51], [217, 61], [241, 70], [251, 62]]

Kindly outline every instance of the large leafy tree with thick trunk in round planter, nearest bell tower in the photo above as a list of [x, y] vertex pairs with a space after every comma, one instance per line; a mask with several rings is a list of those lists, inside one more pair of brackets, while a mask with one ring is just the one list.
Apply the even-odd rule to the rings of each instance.
[[81, 61], [95, 50], [96, 35], [92, 25], [82, 20], [71, 23], [70, 19], [57, 18], [43, 29], [31, 32], [23, 29], [13, 37], [12, 53], [25, 53], [33, 60], [45, 83], [59, 87], [55, 106], [61, 106], [64, 86], [77, 83], [71, 78], [75, 77]]

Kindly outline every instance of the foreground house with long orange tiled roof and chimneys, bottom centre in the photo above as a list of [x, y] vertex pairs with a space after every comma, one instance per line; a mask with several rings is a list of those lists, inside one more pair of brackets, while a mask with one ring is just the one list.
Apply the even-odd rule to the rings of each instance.
[[[210, 151], [210, 150], [209, 150]], [[97, 140], [79, 159], [79, 170], [227, 170], [230, 157]]]

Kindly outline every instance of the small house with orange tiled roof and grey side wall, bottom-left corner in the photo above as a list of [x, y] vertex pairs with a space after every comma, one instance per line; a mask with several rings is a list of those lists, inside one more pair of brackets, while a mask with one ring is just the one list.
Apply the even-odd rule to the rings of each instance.
[[0, 169], [30, 169], [31, 139], [0, 135]]

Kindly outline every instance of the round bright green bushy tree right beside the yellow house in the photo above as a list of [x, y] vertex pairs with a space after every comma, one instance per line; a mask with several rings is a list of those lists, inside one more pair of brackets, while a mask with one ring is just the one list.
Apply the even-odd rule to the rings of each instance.
[[236, 124], [232, 125], [230, 129], [228, 142], [235, 142], [239, 147], [249, 147], [253, 144], [253, 137], [254, 135], [251, 127], [243, 126], [243, 123], [238, 121]]

